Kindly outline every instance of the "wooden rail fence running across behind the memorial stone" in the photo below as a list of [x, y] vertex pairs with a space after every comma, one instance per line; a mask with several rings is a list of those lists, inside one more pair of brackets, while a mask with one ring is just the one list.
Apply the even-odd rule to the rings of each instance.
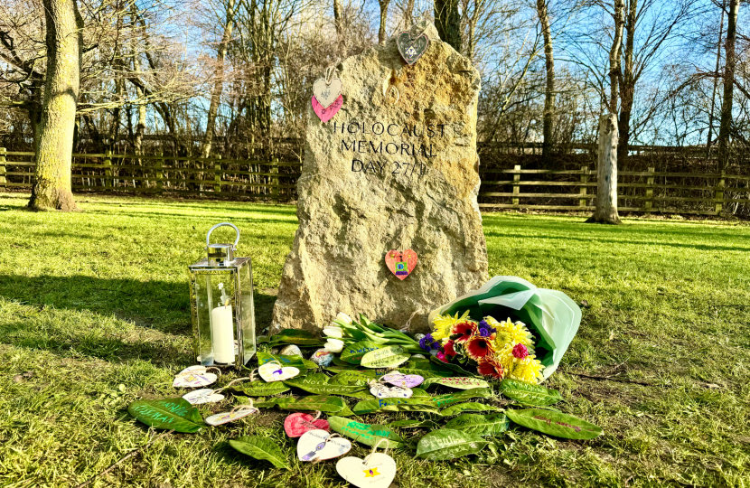
[[[302, 164], [165, 155], [73, 155], [76, 192], [202, 194], [214, 197], [295, 199]], [[126, 164], [128, 163], [129, 164]], [[167, 165], [166, 162], [171, 162]], [[31, 188], [33, 153], [0, 148], [0, 187]], [[480, 169], [479, 206], [491, 209], [592, 211], [596, 171]], [[501, 179], [502, 178], [502, 179]], [[522, 190], [526, 190], [522, 192]], [[750, 176], [741, 174], [622, 171], [620, 211], [718, 215], [750, 213]], [[731, 205], [732, 208], [727, 208]]]

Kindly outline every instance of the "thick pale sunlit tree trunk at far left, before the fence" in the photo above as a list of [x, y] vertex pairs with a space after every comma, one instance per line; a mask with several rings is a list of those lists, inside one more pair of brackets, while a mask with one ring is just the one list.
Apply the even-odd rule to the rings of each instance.
[[80, 89], [83, 20], [75, 0], [43, 0], [47, 74], [39, 148], [29, 207], [75, 211], [70, 187], [73, 132]]

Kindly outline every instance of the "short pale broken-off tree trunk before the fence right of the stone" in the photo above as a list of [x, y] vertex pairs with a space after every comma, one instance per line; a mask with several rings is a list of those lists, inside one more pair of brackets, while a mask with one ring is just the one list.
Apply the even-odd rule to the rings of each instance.
[[617, 213], [617, 116], [599, 117], [596, 210], [586, 222], [619, 224]]

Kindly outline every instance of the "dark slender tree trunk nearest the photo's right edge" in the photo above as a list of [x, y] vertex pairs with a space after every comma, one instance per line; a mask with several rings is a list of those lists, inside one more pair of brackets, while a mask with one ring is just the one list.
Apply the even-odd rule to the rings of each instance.
[[721, 122], [718, 127], [719, 170], [729, 165], [729, 136], [732, 130], [732, 106], [735, 97], [736, 31], [740, 0], [730, 0], [727, 15], [727, 41], [724, 42], [724, 99], [721, 102]]

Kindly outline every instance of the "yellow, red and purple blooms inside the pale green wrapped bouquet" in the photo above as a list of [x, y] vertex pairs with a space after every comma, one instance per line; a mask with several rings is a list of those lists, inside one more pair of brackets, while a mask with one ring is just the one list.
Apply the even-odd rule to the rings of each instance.
[[534, 354], [533, 336], [522, 322], [498, 322], [492, 316], [474, 322], [469, 311], [460, 317], [445, 314], [433, 320], [432, 333], [419, 341], [427, 352], [444, 362], [471, 366], [483, 376], [537, 384], [544, 366]]

